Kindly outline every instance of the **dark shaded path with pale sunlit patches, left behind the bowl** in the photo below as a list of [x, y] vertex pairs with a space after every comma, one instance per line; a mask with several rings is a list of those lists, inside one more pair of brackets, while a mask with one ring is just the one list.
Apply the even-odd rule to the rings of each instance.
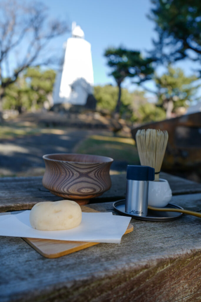
[[[44, 154], [71, 153], [90, 130], [57, 130], [0, 141], [1, 176], [43, 175]], [[60, 133], [60, 134], [59, 134]]]

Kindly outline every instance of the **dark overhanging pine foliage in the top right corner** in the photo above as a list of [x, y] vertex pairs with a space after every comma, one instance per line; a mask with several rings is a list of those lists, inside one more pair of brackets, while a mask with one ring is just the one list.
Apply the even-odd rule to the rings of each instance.
[[163, 47], [168, 47], [166, 58], [170, 61], [185, 57], [201, 59], [201, 2], [199, 0], [151, 0], [154, 5], [149, 16], [159, 34], [155, 41], [155, 56], [164, 57]]

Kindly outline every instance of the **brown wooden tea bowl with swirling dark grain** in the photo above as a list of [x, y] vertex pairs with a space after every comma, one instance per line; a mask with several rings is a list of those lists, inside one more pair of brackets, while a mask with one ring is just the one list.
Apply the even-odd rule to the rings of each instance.
[[54, 195], [81, 205], [111, 187], [109, 170], [113, 159], [110, 157], [58, 153], [42, 158], [46, 165], [42, 184]]

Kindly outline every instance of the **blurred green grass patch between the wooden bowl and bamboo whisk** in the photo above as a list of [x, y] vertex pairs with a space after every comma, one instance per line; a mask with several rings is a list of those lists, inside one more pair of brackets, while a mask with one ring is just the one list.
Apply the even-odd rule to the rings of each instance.
[[78, 144], [75, 153], [112, 157], [129, 164], [140, 164], [137, 147], [132, 138], [91, 135]]

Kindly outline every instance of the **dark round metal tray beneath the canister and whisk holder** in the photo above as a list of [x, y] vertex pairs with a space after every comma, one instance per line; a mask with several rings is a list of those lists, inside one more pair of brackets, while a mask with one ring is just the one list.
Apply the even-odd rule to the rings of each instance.
[[[167, 220], [177, 219], [177, 218], [181, 217], [181, 215], [183, 215], [183, 213], [179, 213], [179, 212], [168, 212], [168, 211], [163, 212], [163, 211], [154, 211], [154, 210], [149, 210], [149, 209], [148, 209], [147, 216], [145, 216], [145, 217], [137, 216], [137, 215], [133, 215], [133, 214], [131, 215], [131, 214], [128, 214], [125, 212], [125, 199], [115, 201], [113, 203], [113, 207], [115, 208], [116, 211], [118, 211], [122, 215], [129, 216], [134, 219], [140, 219], [140, 220], [167, 221]], [[182, 207], [177, 206], [175, 204], [168, 204], [166, 207], [183, 210]]]

